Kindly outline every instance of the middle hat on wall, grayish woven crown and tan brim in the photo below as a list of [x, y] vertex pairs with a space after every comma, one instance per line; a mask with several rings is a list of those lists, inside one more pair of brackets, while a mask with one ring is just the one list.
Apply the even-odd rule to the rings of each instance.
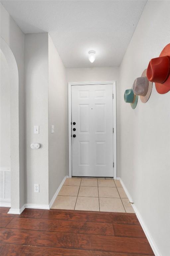
[[148, 101], [152, 91], [152, 82], [148, 81], [146, 71], [147, 69], [145, 69], [141, 77], [136, 78], [133, 83], [133, 92], [135, 95], [140, 96], [140, 100], [143, 103]]

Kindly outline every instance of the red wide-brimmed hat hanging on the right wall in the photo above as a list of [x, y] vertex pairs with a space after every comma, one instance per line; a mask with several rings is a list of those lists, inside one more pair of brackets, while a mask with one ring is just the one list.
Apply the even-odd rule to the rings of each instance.
[[155, 83], [158, 93], [170, 91], [170, 44], [165, 46], [158, 58], [150, 60], [146, 76]]

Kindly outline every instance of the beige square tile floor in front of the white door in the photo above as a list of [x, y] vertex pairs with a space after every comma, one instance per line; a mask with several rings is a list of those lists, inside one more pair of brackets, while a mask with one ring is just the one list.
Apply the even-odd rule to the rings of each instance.
[[51, 208], [134, 212], [120, 181], [114, 179], [67, 178]]

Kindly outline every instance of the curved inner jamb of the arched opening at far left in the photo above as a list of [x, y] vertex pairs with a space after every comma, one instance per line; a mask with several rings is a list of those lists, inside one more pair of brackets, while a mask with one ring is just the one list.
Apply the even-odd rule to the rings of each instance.
[[[19, 78], [18, 67], [10, 47], [1, 37], [1, 51], [9, 68], [10, 83], [10, 155], [11, 155], [11, 209], [20, 214], [20, 159], [19, 159]], [[3, 149], [1, 149], [3, 150]]]

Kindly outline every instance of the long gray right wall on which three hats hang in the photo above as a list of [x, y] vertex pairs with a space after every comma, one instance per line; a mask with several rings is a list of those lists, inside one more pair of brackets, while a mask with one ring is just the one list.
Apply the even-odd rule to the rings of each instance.
[[153, 84], [134, 110], [124, 92], [170, 43], [169, 13], [169, 1], [146, 3], [120, 66], [120, 176], [161, 256], [170, 252], [170, 92], [158, 94]]

